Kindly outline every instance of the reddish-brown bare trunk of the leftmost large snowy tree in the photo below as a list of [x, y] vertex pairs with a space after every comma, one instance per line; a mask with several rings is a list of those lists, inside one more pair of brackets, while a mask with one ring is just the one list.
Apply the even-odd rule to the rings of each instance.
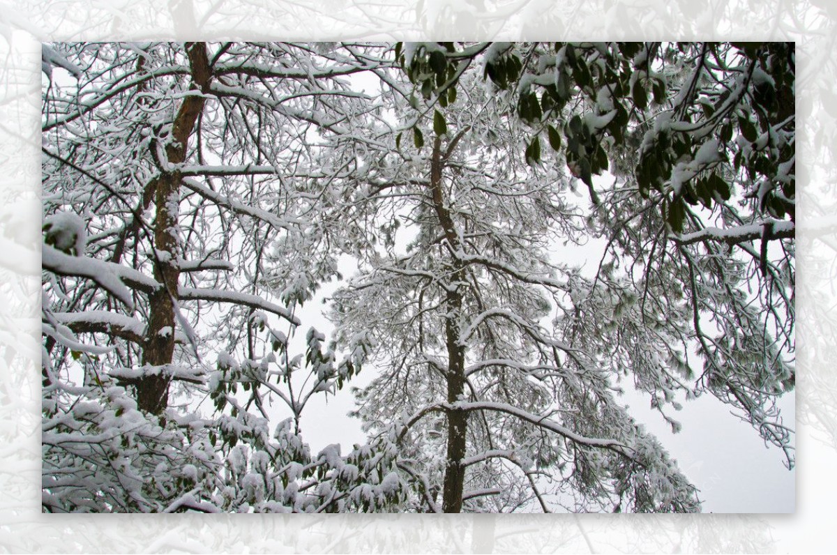
[[[207, 57], [206, 44], [186, 43], [189, 65], [192, 69], [190, 90], [208, 92], [211, 73]], [[174, 303], [177, 302], [177, 282], [180, 271], [177, 269], [177, 219], [180, 203], [180, 172], [167, 171], [167, 164], [179, 164], [186, 160], [189, 136], [192, 135], [195, 122], [203, 110], [203, 96], [187, 96], [172, 125], [172, 136], [166, 145], [166, 164], [164, 171], [157, 178], [154, 192], [156, 206], [154, 221], [155, 264], [154, 278], [163, 287], [148, 297], [148, 326], [145, 342], [142, 346], [144, 366], [160, 367], [172, 362], [174, 352]], [[157, 156], [156, 152], [151, 152]], [[168, 406], [169, 378], [164, 375], [150, 375], [140, 378], [136, 383], [136, 402], [140, 409], [151, 414], [161, 414]]]

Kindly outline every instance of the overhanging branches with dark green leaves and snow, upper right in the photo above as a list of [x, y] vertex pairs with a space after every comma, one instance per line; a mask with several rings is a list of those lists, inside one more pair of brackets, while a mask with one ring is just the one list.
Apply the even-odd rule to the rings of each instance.
[[[766, 361], [775, 379], [756, 379], [750, 394], [761, 400], [753, 403], [740, 392], [747, 386], [721, 368], [726, 362], [702, 376], [726, 374], [711, 389], [741, 409], [765, 439], [787, 445], [773, 402], [757, 390], [767, 383], [773, 393], [793, 388], [793, 370], [778, 362], [773, 341], [745, 344], [762, 337], [753, 327], [767, 326], [776, 345], [793, 353], [793, 44], [419, 43], [397, 44], [396, 55], [430, 105], [454, 100], [468, 68], [509, 95], [510, 111], [535, 133], [526, 141], [526, 161], [540, 164], [545, 136], [570, 174], [587, 185], [598, 207], [593, 233], [608, 240], [599, 270], [621, 265], [634, 282], [650, 284], [659, 272], [679, 268], [680, 280], [691, 285], [687, 296], [701, 350], [750, 352]], [[594, 187], [593, 175], [608, 170], [625, 181], [619, 193], [604, 181]], [[648, 254], [640, 254], [649, 245]], [[737, 254], [730, 267], [718, 260], [731, 249]], [[625, 257], [639, 258], [626, 265]], [[666, 261], [675, 266], [661, 270]], [[711, 285], [698, 266], [711, 270]], [[607, 281], [597, 277], [593, 284]], [[757, 292], [733, 292], [745, 282]], [[726, 293], [721, 304], [732, 308], [721, 309], [719, 288]], [[643, 291], [644, 312], [649, 285]], [[701, 327], [706, 315], [716, 322]], [[709, 331], [715, 325], [720, 335]], [[747, 340], [732, 341], [737, 334]], [[771, 407], [766, 412], [764, 403]]]

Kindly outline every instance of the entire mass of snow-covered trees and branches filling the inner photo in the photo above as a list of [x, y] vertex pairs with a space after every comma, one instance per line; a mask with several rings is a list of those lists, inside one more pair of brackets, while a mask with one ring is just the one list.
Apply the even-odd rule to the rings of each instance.
[[[44, 45], [44, 511], [698, 511], [624, 380], [792, 466], [793, 64]], [[367, 442], [312, 454], [306, 405], [362, 369]]]

